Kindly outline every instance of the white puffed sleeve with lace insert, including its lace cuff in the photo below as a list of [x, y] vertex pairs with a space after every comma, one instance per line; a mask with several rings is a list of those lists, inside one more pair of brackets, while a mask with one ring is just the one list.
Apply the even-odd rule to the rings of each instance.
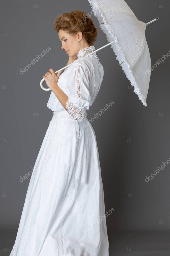
[[78, 63], [74, 64], [67, 82], [69, 95], [66, 108], [70, 115], [79, 122], [83, 121], [86, 109], [91, 106], [91, 96], [88, 90], [89, 79], [88, 70]]

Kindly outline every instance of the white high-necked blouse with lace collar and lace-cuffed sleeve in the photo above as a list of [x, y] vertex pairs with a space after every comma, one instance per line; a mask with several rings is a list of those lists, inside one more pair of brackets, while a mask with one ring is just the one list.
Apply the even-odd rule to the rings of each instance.
[[[103, 80], [103, 66], [96, 52], [85, 56], [94, 50], [94, 46], [81, 49], [77, 53], [78, 59], [61, 73], [57, 82], [68, 96], [67, 111], [79, 122], [86, 117], [86, 110], [93, 104]], [[53, 91], [51, 91], [47, 107], [53, 111], [65, 110]]]

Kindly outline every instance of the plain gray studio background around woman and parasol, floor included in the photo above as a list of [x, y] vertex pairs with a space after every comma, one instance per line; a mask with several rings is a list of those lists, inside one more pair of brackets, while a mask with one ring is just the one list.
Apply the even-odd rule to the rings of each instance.
[[[126, 0], [126, 3], [145, 23], [160, 17], [146, 29], [154, 65], [170, 50], [170, 1]], [[40, 80], [49, 68], [56, 71], [68, 61], [53, 22], [59, 14], [72, 10], [89, 13], [91, 7], [85, 0], [7, 0], [1, 3], [0, 253], [5, 256], [15, 242], [31, 177], [20, 182], [20, 176], [34, 166], [53, 115], [46, 106], [51, 91], [43, 91]], [[98, 49], [107, 44], [106, 35], [97, 18], [91, 17], [98, 28], [94, 45]], [[38, 63], [27, 72], [20, 72], [48, 47], [51, 50]], [[151, 72], [148, 106], [145, 107], [133, 92], [134, 88], [128, 89], [130, 82], [111, 47], [97, 55], [104, 67], [104, 78], [87, 118], [90, 120], [114, 101], [101, 117], [91, 122], [99, 150], [105, 209], [114, 209], [106, 219], [110, 255], [168, 255], [170, 58]], [[167, 162], [164, 169], [146, 182], [146, 176], [153, 174], [163, 162]], [[7, 250], [2, 251], [2, 247]]]

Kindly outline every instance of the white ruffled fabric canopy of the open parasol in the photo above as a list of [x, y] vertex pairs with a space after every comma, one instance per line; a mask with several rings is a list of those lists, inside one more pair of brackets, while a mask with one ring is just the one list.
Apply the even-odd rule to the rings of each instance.
[[88, 0], [100, 28], [134, 92], [144, 106], [149, 89], [151, 58], [145, 37], [146, 23], [137, 19], [124, 0]]

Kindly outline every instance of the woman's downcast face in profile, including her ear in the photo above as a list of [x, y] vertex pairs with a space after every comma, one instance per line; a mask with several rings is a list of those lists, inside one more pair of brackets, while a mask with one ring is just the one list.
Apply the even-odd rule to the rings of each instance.
[[69, 57], [74, 57], [79, 52], [81, 48], [81, 34], [81, 32], [78, 32], [76, 35], [71, 35], [62, 29], [58, 31], [58, 36], [62, 43], [61, 48], [67, 51], [66, 54], [68, 54]]

